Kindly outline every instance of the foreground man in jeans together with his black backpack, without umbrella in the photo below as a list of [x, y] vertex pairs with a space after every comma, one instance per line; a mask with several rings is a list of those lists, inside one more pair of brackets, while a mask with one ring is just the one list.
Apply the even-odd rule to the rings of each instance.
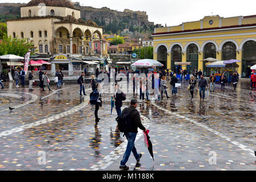
[[123, 155], [123, 160], [121, 160], [120, 169], [129, 170], [129, 167], [126, 166], [126, 163], [130, 157], [131, 152], [137, 162], [142, 157], [142, 154], [138, 154], [135, 148], [135, 139], [139, 129], [146, 132], [146, 128], [141, 123], [141, 116], [137, 108], [137, 100], [131, 100], [130, 107], [126, 107], [122, 111], [122, 115], [118, 117], [118, 127], [119, 131], [125, 134], [126, 139], [128, 140], [125, 155]]

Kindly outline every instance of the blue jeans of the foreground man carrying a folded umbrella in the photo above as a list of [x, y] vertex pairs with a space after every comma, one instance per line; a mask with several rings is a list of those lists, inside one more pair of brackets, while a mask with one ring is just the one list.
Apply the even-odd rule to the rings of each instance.
[[128, 143], [127, 143], [125, 155], [123, 155], [123, 160], [121, 160], [121, 165], [120, 166], [125, 166], [125, 164], [127, 163], [128, 159], [131, 155], [131, 152], [133, 152], [133, 155], [134, 155], [136, 160], [139, 159], [139, 154], [137, 153], [137, 150], [134, 146], [136, 136], [137, 136], [137, 133], [127, 133], [127, 134], [125, 134], [125, 137], [127, 138]]

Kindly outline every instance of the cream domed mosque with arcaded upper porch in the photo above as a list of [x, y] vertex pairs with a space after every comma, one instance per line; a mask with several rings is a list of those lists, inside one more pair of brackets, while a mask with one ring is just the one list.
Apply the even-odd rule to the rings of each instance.
[[[66, 58], [94, 55], [97, 41], [103, 49], [106, 43], [102, 41], [102, 28], [92, 20], [81, 19], [80, 10], [68, 0], [32, 0], [20, 7], [19, 19], [7, 20], [8, 36], [26, 38], [39, 55]], [[100, 56], [104, 56], [103, 51]], [[69, 63], [61, 60], [60, 64]], [[57, 63], [52, 64], [52, 70], [55, 68]]]

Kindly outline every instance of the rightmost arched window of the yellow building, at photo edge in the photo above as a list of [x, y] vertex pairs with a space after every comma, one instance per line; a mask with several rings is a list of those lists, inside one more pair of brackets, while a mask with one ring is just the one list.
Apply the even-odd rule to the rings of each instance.
[[243, 44], [242, 77], [249, 77], [251, 67], [256, 64], [256, 42], [253, 40]]

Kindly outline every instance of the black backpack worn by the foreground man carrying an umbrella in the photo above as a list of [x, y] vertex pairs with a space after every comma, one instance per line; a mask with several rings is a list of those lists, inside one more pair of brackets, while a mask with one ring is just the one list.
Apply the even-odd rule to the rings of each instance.
[[131, 118], [130, 115], [133, 111], [136, 109], [131, 110], [129, 113], [122, 113], [121, 115], [118, 115], [117, 117], [117, 123], [118, 123], [118, 130], [119, 132], [123, 133], [123, 136], [127, 132], [127, 130], [130, 129], [130, 123]]

